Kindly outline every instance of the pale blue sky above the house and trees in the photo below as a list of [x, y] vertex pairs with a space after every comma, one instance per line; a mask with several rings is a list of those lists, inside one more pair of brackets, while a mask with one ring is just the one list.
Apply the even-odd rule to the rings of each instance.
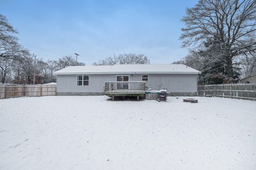
[[180, 19], [196, 0], [0, 0], [0, 13], [19, 31], [19, 42], [44, 60], [81, 56], [92, 64], [120, 53], [145, 54], [151, 63], [186, 56]]

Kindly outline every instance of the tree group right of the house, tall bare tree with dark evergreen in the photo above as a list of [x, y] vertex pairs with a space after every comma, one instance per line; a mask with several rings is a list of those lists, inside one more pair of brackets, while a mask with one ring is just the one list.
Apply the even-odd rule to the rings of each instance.
[[202, 73], [201, 84], [236, 83], [256, 74], [256, 1], [199, 0], [181, 19], [189, 54], [174, 63]]

